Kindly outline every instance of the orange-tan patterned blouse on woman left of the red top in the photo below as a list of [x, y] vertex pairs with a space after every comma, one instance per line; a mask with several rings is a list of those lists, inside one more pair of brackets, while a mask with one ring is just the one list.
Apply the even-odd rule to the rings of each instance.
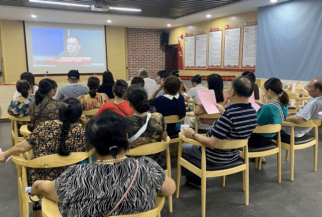
[[104, 103], [111, 102], [106, 93], [96, 93], [94, 98], [91, 95], [86, 94], [78, 98], [82, 103], [84, 110], [90, 110], [94, 108], [101, 108]]

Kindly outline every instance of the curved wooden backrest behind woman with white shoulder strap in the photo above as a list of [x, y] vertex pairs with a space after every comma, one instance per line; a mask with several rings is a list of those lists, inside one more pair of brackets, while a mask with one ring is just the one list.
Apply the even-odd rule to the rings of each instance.
[[166, 140], [162, 142], [148, 143], [142, 146], [132, 148], [126, 153], [126, 155], [143, 156], [143, 155], [156, 154], [165, 150], [168, 147], [169, 142], [170, 142], [170, 137], [166, 137]]

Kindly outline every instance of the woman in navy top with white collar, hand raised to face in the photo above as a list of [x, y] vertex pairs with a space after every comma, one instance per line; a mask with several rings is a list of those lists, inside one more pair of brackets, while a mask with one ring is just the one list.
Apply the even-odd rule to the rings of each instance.
[[[164, 96], [154, 97], [162, 90], [164, 85]], [[170, 115], [178, 115], [181, 118], [185, 117], [184, 98], [178, 94], [180, 90], [180, 80], [175, 76], [168, 76], [164, 83], [161, 83], [159, 88], [149, 97], [151, 106], [155, 106], [157, 112], [163, 117]], [[166, 132], [168, 136], [178, 135], [180, 132], [181, 122], [167, 124]]]

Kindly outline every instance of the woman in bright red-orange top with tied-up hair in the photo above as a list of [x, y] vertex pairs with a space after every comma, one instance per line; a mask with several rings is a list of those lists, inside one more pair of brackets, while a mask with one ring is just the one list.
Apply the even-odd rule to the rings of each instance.
[[126, 91], [128, 90], [128, 83], [125, 80], [117, 80], [113, 85], [114, 102], [108, 102], [101, 106], [95, 115], [100, 114], [102, 111], [109, 109], [117, 112], [122, 116], [133, 115], [132, 108], [128, 102], [124, 100]]

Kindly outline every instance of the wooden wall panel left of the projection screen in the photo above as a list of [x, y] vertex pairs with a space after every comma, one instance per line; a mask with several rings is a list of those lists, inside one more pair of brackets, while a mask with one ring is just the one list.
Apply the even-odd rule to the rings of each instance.
[[0, 20], [5, 82], [12, 83], [27, 70], [23, 22]]

